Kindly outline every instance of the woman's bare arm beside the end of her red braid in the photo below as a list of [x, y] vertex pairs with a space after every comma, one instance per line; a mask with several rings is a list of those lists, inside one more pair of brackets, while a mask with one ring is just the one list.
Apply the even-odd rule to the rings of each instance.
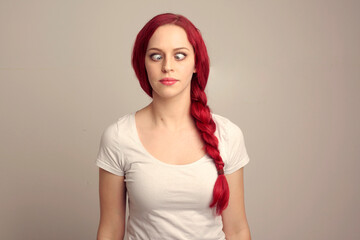
[[244, 204], [244, 168], [225, 176], [230, 197], [227, 208], [222, 212], [222, 219], [223, 231], [226, 236], [230, 236], [249, 229]]

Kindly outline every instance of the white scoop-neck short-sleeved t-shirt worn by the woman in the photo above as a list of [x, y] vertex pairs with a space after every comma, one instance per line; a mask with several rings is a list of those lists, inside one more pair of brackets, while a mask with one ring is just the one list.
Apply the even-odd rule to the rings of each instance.
[[[240, 128], [212, 113], [224, 173], [249, 162]], [[125, 176], [128, 240], [224, 240], [221, 216], [209, 207], [217, 170], [205, 155], [185, 165], [162, 162], [142, 145], [135, 113], [120, 117], [103, 132], [96, 165]]]

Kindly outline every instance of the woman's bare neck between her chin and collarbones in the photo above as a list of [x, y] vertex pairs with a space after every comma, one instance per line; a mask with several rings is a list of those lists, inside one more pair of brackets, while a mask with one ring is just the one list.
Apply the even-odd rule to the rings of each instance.
[[177, 131], [188, 128], [189, 125], [193, 126], [194, 121], [190, 113], [190, 107], [190, 93], [169, 99], [154, 95], [148, 110], [156, 127]]

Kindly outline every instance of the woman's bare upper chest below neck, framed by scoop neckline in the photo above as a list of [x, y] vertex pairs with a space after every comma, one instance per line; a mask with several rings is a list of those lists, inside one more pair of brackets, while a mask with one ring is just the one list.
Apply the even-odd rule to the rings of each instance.
[[195, 126], [179, 131], [154, 128], [149, 124], [150, 115], [140, 110], [136, 113], [136, 128], [144, 148], [159, 161], [183, 165], [193, 163], [206, 154], [203, 140]]

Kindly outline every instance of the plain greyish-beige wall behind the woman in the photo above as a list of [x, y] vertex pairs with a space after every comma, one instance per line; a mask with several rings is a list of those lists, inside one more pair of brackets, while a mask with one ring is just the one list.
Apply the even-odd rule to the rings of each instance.
[[253, 239], [360, 239], [359, 1], [0, 1], [0, 239], [95, 239], [104, 128], [150, 99], [137, 32], [180, 13], [244, 132]]

